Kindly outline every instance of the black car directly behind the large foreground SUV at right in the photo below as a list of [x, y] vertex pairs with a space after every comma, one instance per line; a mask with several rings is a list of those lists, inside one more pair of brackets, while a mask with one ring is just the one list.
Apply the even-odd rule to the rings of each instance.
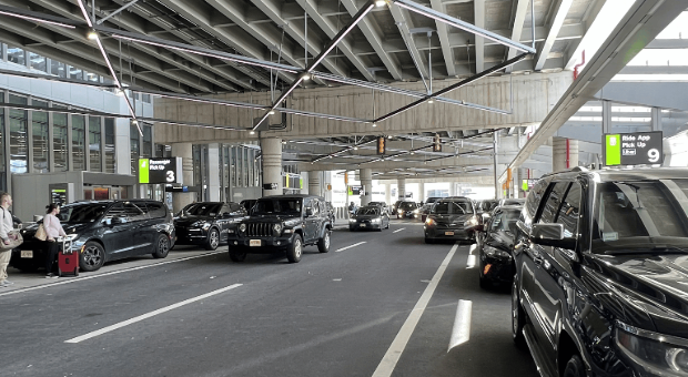
[[523, 207], [516, 205], [496, 207], [492, 218], [482, 226], [484, 232], [477, 234], [480, 287], [512, 285], [514, 279], [512, 248], [514, 248], [516, 222], [522, 210]]

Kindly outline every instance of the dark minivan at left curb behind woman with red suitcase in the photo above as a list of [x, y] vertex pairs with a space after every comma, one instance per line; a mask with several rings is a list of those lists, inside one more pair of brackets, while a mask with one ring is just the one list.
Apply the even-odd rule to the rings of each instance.
[[[85, 272], [138, 255], [164, 258], [174, 244], [172, 215], [161, 202], [78, 202], [62, 206], [58, 217], [72, 240], [72, 251], [80, 254], [79, 268]], [[44, 266], [45, 244], [33, 237], [41, 222], [21, 231], [24, 243], [12, 251], [13, 267], [37, 271]]]

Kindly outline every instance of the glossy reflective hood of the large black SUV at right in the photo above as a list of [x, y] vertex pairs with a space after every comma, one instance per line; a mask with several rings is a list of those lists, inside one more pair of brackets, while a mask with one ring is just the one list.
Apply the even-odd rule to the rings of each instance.
[[[617, 302], [607, 308], [621, 306], [621, 320], [644, 327], [654, 325], [661, 334], [688, 338], [688, 255], [596, 255], [588, 256], [603, 281], [613, 281], [623, 294], [608, 295]], [[604, 288], [603, 288], [604, 289]], [[636, 324], [641, 308], [651, 324]], [[634, 313], [636, 312], [636, 313]], [[628, 318], [630, 317], [630, 318]]]

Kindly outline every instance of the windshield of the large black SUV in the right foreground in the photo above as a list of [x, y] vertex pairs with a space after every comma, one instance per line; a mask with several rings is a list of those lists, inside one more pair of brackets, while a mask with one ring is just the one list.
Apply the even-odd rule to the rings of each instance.
[[598, 185], [593, 253], [647, 253], [688, 248], [688, 180]]

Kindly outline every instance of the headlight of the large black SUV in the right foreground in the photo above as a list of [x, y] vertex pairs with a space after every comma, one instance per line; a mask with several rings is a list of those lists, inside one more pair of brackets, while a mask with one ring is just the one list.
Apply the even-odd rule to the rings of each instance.
[[688, 340], [617, 323], [616, 344], [634, 363], [657, 376], [688, 374]]

